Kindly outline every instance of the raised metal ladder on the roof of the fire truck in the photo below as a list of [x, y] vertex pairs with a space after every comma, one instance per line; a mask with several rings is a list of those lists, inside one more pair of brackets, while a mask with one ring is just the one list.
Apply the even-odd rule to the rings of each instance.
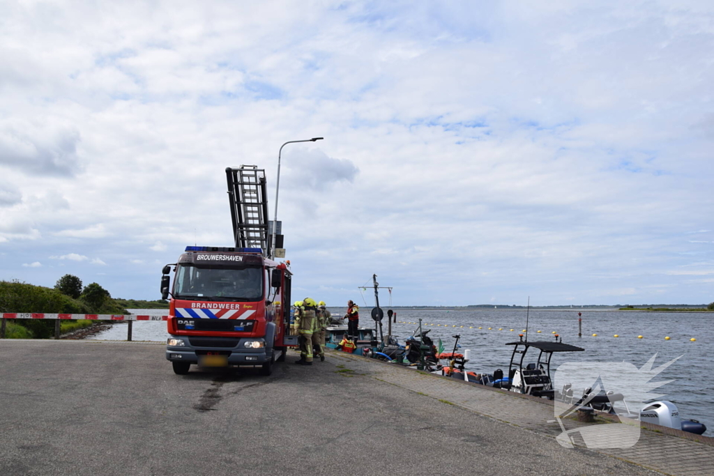
[[270, 256], [266, 173], [257, 166], [226, 168], [236, 248], [261, 248]]

